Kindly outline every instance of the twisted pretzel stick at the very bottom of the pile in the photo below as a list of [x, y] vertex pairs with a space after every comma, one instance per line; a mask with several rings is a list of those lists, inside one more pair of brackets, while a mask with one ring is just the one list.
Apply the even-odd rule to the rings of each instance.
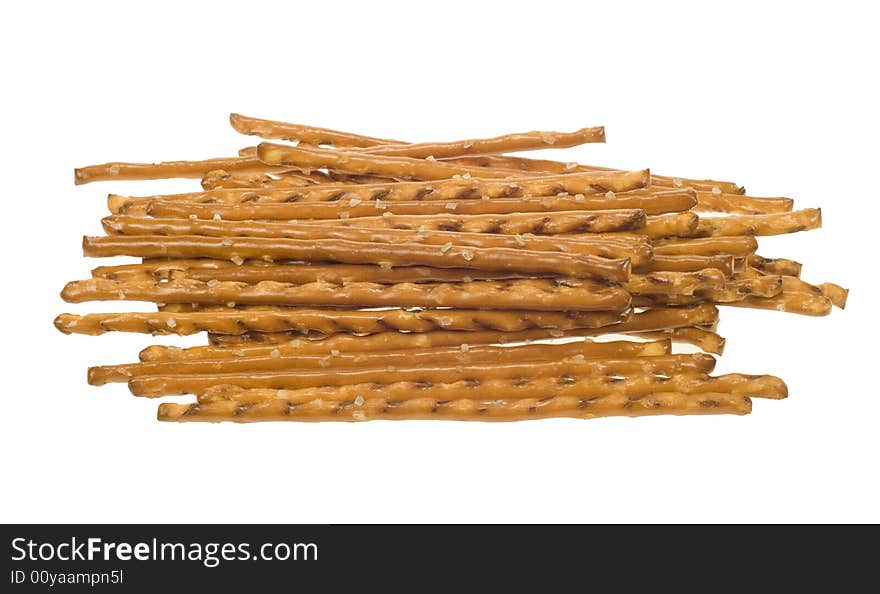
[[359, 405], [329, 400], [312, 400], [293, 405], [282, 400], [241, 404], [233, 400], [209, 404], [159, 405], [160, 421], [368, 421], [368, 420], [448, 420], [448, 421], [526, 421], [547, 418], [592, 419], [609, 416], [654, 416], [738, 414], [751, 412], [751, 400], [728, 394], [675, 394], [662, 392], [650, 397], [608, 396], [583, 398], [546, 397], [520, 400], [434, 400], [420, 398], [390, 401], [370, 398]]

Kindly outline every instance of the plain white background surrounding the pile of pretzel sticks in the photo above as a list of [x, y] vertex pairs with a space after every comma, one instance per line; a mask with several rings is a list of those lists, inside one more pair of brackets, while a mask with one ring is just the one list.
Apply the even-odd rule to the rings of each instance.
[[[880, 521], [876, 14], [870, 3], [14, 3], [0, 35], [0, 521]], [[747, 417], [160, 424], [86, 385], [149, 336], [64, 336], [108, 192], [73, 168], [234, 154], [230, 111], [411, 140], [604, 124], [566, 161], [715, 177], [821, 206], [761, 240], [852, 289], [813, 319], [724, 309]], [[147, 306], [144, 305], [144, 308]], [[194, 343], [195, 339], [164, 339]]]

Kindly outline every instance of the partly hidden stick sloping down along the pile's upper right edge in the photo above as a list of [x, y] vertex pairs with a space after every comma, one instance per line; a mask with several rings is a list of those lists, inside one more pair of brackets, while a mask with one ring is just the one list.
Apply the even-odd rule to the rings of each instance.
[[[545, 159], [530, 159], [526, 157], [511, 157], [510, 155], [485, 155], [480, 157], [455, 157], [447, 162], [469, 167], [483, 167], [487, 169], [518, 169], [526, 172], [563, 173], [571, 171], [617, 171], [610, 167], [596, 165], [582, 165], [579, 163], [563, 163], [561, 161], [549, 161]], [[652, 175], [651, 185], [661, 188], [693, 188], [698, 191], [714, 192], [716, 188], [728, 194], [744, 194], [745, 190], [733, 182], [716, 180], [696, 180], [688, 178], [670, 177], [664, 175]]]

